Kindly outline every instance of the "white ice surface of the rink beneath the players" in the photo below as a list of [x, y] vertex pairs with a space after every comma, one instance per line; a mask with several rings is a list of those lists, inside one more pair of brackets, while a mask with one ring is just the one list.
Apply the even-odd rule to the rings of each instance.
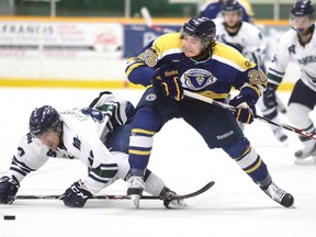
[[[112, 90], [136, 103], [140, 90]], [[100, 90], [0, 89], [0, 176], [10, 166], [16, 145], [27, 131], [29, 114], [35, 106], [50, 104], [58, 110], [86, 106]], [[289, 93], [281, 93], [286, 102]], [[315, 119], [315, 116], [314, 116]], [[287, 123], [283, 117], [283, 123]], [[61, 201], [16, 200], [0, 205], [0, 237], [59, 236], [225, 236], [274, 237], [315, 236], [315, 166], [294, 165], [294, 151], [301, 144], [289, 132], [290, 142], [275, 140], [268, 124], [256, 121], [246, 135], [266, 161], [274, 182], [291, 192], [296, 208], [285, 208], [271, 201], [219, 149], [207, 149], [201, 137], [182, 120], [169, 122], [156, 135], [149, 168], [174, 191], [184, 194], [214, 180], [215, 185], [188, 200], [187, 210], [166, 210], [161, 201], [132, 202], [89, 200], [83, 208], [65, 207]], [[49, 160], [29, 174], [18, 194], [61, 194], [86, 174], [79, 160]], [[117, 181], [103, 190], [125, 194], [126, 183]], [[15, 215], [4, 221], [3, 215]]]

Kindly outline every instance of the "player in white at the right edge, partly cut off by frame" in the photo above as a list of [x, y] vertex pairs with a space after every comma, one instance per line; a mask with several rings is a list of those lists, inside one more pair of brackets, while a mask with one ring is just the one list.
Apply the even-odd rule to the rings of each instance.
[[[311, 0], [297, 0], [294, 3], [290, 23], [292, 29], [281, 36], [268, 69], [269, 83], [263, 92], [263, 102], [275, 117], [275, 90], [282, 82], [289, 63], [297, 63], [301, 78], [296, 81], [289, 100], [287, 119], [293, 126], [314, 134], [315, 126], [308, 116], [316, 104], [316, 35]], [[316, 140], [305, 136], [300, 136], [300, 139], [303, 148], [294, 154], [295, 162], [315, 162]]]

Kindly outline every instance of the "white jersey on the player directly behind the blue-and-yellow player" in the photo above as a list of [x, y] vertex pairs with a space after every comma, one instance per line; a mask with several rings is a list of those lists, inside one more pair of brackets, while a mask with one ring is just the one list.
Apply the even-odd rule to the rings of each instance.
[[239, 31], [232, 35], [224, 26], [224, 19], [214, 19], [216, 24], [216, 41], [236, 48], [246, 58], [255, 61], [258, 66], [264, 63], [267, 44], [261, 31], [248, 22], [242, 22]]

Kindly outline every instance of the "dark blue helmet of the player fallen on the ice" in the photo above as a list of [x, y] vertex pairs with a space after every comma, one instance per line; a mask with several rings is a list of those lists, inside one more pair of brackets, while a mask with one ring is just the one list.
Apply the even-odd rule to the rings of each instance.
[[35, 108], [30, 116], [29, 129], [33, 136], [41, 136], [49, 128], [61, 131], [59, 113], [49, 105]]

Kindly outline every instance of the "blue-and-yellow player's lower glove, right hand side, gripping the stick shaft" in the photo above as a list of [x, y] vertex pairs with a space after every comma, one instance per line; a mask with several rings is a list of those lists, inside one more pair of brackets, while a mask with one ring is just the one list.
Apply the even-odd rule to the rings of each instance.
[[230, 100], [229, 104], [237, 109], [233, 112], [237, 121], [246, 124], [253, 122], [256, 117], [256, 106], [247, 97], [239, 94]]

